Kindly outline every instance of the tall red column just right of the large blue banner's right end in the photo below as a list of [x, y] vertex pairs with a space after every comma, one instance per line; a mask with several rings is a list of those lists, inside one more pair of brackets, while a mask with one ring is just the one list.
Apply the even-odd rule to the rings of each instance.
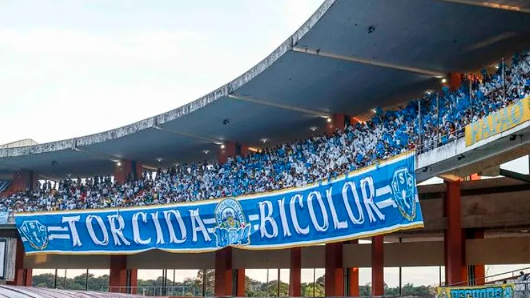
[[463, 233], [461, 225], [460, 181], [446, 181], [444, 197], [447, 230], [444, 231], [445, 283], [463, 285], [464, 265]]

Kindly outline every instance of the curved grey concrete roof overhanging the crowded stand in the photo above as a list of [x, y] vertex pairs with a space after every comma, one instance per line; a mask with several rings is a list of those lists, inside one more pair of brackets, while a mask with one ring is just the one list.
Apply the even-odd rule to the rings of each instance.
[[234, 81], [118, 129], [0, 149], [0, 174], [92, 176], [113, 172], [113, 160], [167, 166], [214, 159], [226, 141], [260, 147], [262, 138], [303, 138], [310, 127], [322, 132], [333, 113], [359, 115], [419, 97], [440, 88], [448, 72], [480, 69], [528, 47], [528, 1], [326, 0]]

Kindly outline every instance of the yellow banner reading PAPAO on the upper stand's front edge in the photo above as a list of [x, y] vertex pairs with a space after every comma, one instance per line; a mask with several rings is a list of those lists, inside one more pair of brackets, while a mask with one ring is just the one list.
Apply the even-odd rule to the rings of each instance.
[[497, 135], [530, 120], [530, 97], [511, 104], [502, 110], [491, 113], [478, 121], [465, 126], [465, 146]]

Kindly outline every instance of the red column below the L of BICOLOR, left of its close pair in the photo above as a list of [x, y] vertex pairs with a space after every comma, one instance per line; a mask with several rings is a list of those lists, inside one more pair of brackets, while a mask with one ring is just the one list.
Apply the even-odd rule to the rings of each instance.
[[344, 296], [344, 269], [342, 267], [342, 242], [326, 245], [326, 273], [324, 293], [328, 297]]

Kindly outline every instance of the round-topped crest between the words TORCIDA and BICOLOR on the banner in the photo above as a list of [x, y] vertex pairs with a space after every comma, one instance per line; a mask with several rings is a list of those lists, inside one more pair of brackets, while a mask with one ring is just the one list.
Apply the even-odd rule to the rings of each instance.
[[234, 199], [224, 199], [216, 207], [217, 247], [250, 244], [250, 224], [245, 220], [243, 209]]

